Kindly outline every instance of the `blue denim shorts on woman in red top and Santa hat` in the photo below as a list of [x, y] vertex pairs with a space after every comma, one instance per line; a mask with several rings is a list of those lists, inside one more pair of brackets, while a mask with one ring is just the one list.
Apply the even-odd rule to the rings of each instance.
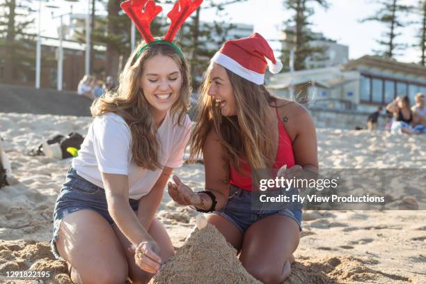
[[[269, 194], [271, 191], [268, 190], [268, 195], [285, 194], [287, 196], [291, 196], [293, 194], [298, 194], [297, 189], [292, 189], [291, 191], [274, 189], [273, 191], [274, 192], [272, 194]], [[257, 198], [255, 196], [256, 194], [259, 195], [260, 193], [240, 189], [239, 187], [231, 184], [228, 200], [222, 209], [214, 212], [214, 214], [219, 214], [234, 223], [235, 226], [243, 232], [243, 234], [246, 232], [248, 227], [251, 226], [251, 224], [271, 215], [290, 217], [296, 221], [299, 226], [299, 230], [301, 230], [301, 203], [290, 203], [285, 205], [281, 203], [275, 207], [265, 205], [265, 207], [261, 208], [258, 206], [259, 203], [253, 203], [253, 200], [256, 200]]]

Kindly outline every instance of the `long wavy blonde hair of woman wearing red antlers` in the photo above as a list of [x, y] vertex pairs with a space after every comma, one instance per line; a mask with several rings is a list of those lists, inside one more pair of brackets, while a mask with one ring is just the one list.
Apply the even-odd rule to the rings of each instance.
[[149, 58], [156, 55], [169, 56], [178, 64], [182, 74], [182, 86], [178, 100], [172, 105], [170, 111], [172, 117], [178, 113], [178, 125], [182, 125], [189, 107], [191, 81], [186, 61], [173, 47], [159, 43], [146, 48], [138, 57], [136, 54], [142, 46], [142, 43], [139, 44], [127, 60], [125, 68], [120, 74], [118, 90], [112, 90], [93, 102], [90, 111], [94, 117], [104, 113], [116, 113], [121, 116], [129, 125], [132, 134], [134, 162], [138, 166], [154, 171], [161, 168], [159, 162], [161, 145], [157, 141], [157, 126], [150, 104], [139, 87], [144, 64]]

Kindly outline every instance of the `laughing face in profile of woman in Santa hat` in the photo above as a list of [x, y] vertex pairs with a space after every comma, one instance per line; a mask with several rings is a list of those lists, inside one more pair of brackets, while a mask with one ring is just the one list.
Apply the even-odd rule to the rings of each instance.
[[210, 88], [207, 95], [212, 96], [216, 105], [220, 107], [222, 116], [236, 116], [237, 107], [234, 90], [225, 68], [213, 63], [209, 78]]

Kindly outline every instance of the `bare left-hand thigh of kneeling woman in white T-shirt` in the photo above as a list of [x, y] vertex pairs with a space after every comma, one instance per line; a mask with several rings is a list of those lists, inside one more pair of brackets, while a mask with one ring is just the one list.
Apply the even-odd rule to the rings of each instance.
[[66, 216], [56, 248], [70, 263], [74, 283], [125, 283], [127, 260], [111, 225], [97, 212], [80, 210]]

